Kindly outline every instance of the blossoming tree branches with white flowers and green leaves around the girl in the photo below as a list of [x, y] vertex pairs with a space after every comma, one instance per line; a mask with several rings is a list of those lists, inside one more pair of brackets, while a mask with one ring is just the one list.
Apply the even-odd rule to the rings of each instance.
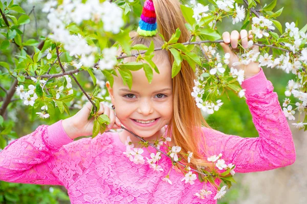
[[[195, 98], [196, 105], [206, 114], [213, 114], [223, 106], [219, 97], [227, 90], [235, 92], [238, 97], [244, 97], [245, 90], [239, 87], [244, 81], [244, 70], [235, 69], [237, 66], [259, 62], [261, 67], [281, 69], [285, 74], [292, 74], [293, 79], [285, 84], [284, 94], [287, 97], [293, 95], [296, 101], [291, 103], [286, 97], [282, 104], [283, 112], [289, 120], [296, 120], [294, 114], [299, 112], [298, 119], [292, 124], [307, 130], [307, 116], [301, 118], [306, 113], [307, 106], [307, 24], [299, 29], [294, 22], [287, 22], [283, 27], [276, 19], [283, 8], [273, 11], [276, 3], [277, 0], [272, 0], [270, 4], [262, 6], [259, 0], [208, 0], [207, 4], [200, 4], [191, 0], [188, 5], [181, 5], [187, 22], [185, 25], [191, 35], [190, 40], [178, 43], [181, 31], [177, 29], [170, 40], [155, 49], [153, 44], [149, 47], [131, 46], [129, 42], [128, 33], [137, 22], [133, 19], [140, 16], [140, 1], [48, 1], [42, 12], [47, 13], [49, 33], [39, 39], [27, 40], [24, 39], [25, 25], [30, 22], [30, 14], [27, 15], [13, 1], [0, 2], [0, 28], [5, 30], [2, 33], [4, 39], [1, 49], [14, 47], [11, 50], [14, 53], [11, 59], [0, 62], [0, 74], [12, 79], [8, 90], [0, 83], [0, 88], [5, 93], [0, 104], [0, 126], [5, 127], [2, 135], [8, 134], [12, 128], [5, 124], [3, 116], [16, 100], [13, 97], [17, 96], [22, 101], [18, 103], [31, 107], [33, 113], [42, 119], [52, 118], [58, 111], [70, 114], [72, 107], [80, 108], [86, 101], [90, 101], [93, 104], [90, 117], [95, 119], [95, 137], [109, 123], [106, 115], [95, 114], [101, 101], [110, 101], [104, 82], [107, 80], [113, 84], [115, 69], [130, 88], [131, 71], [143, 69], [150, 82], [153, 71], [157, 72], [152, 57], [156, 50], [161, 49], [169, 50], [174, 56], [172, 78], [180, 71], [182, 61], [187, 61], [195, 71], [197, 80], [191, 95]], [[261, 9], [256, 10], [256, 6], [261, 6]], [[19, 15], [16, 17], [12, 12]], [[133, 16], [132, 20], [130, 16]], [[233, 64], [229, 64], [229, 53], [221, 56], [217, 52], [218, 44], [223, 42], [217, 23], [229, 16], [233, 24], [242, 23], [241, 29], [250, 30], [250, 35], [253, 36], [248, 42], [248, 48], [244, 48], [239, 42], [239, 47], [233, 49], [237, 54]], [[118, 46], [123, 48], [119, 56], [116, 55]], [[131, 50], [138, 50], [139, 54], [131, 55]], [[124, 63], [123, 59], [127, 57], [135, 57], [136, 60]], [[90, 76], [87, 80], [95, 86], [93, 91], [86, 91], [89, 87], [80, 83], [80, 75], [85, 72]], [[81, 100], [75, 100], [80, 95]], [[140, 139], [143, 145], [148, 145], [143, 138]], [[169, 139], [158, 140], [155, 144], [149, 144], [157, 149], [157, 153], [152, 153], [151, 158], [147, 158], [147, 163], [157, 171], [161, 171], [157, 163], [161, 154], [169, 157], [174, 165], [182, 165], [177, 155], [181, 147], [170, 147], [166, 153], [160, 151], [159, 145], [168, 141]], [[6, 144], [6, 140], [0, 137], [0, 148], [4, 148]], [[132, 162], [143, 164], [145, 160], [141, 156], [142, 149], [130, 146], [129, 141], [126, 144], [127, 151], [124, 154]], [[192, 158], [192, 154], [188, 153], [188, 159]], [[214, 183], [213, 177], [217, 176], [230, 187], [231, 182], [234, 182], [232, 176], [235, 173], [235, 164], [225, 164], [221, 157], [222, 154], [214, 155], [208, 161], [216, 169], [225, 170], [224, 172], [209, 172], [185, 166], [187, 173], [182, 181], [192, 185], [198, 177], [201, 181]], [[171, 184], [168, 175], [164, 181]], [[226, 186], [219, 189], [215, 199], [224, 196], [225, 188]], [[203, 189], [195, 193], [195, 196], [202, 199], [208, 194], [210, 192]]]

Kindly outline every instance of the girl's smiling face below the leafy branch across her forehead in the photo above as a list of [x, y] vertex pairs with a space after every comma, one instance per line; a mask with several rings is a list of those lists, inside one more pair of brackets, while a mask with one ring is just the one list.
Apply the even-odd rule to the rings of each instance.
[[[156, 63], [160, 74], [153, 70], [153, 79], [149, 84], [143, 69], [131, 71], [133, 85], [131, 91], [123, 85], [121, 77], [114, 78], [113, 88], [106, 83], [116, 116], [128, 130], [148, 139], [155, 136], [171, 119], [172, 79], [169, 60]], [[119, 75], [119, 73], [118, 73]], [[142, 122], [148, 122], [143, 124]]]

